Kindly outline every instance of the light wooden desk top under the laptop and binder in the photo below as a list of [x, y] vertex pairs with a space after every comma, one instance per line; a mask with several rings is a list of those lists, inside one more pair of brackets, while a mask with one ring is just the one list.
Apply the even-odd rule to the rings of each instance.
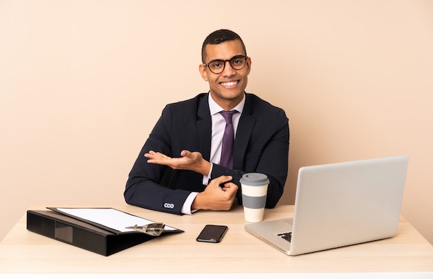
[[[83, 206], [84, 207], [84, 206]], [[0, 273], [355, 273], [433, 271], [433, 247], [404, 218], [394, 238], [301, 256], [287, 256], [243, 229], [243, 210], [172, 215], [113, 208], [165, 222], [185, 233], [163, 235], [100, 256], [26, 230], [26, 214], [0, 244]], [[31, 209], [44, 209], [35, 206]], [[265, 220], [293, 216], [293, 206], [266, 209]], [[196, 242], [205, 224], [229, 229], [218, 244]]]

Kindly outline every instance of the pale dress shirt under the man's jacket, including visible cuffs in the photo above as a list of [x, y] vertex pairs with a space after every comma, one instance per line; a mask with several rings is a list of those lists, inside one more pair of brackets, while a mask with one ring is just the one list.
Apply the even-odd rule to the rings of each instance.
[[[213, 163], [219, 164], [221, 160], [221, 147], [223, 143], [224, 129], [225, 129], [225, 119], [223, 115], [221, 115], [221, 111], [224, 110], [216, 104], [214, 99], [210, 93], [208, 94], [208, 102], [210, 108], [210, 115], [212, 115], [212, 137], [210, 143], [210, 172], [208, 175], [203, 175], [203, 185], [208, 185], [210, 180], [210, 174], [212, 173]], [[232, 116], [232, 124], [234, 130], [234, 138], [236, 138], [237, 125], [239, 124], [239, 119], [241, 119], [241, 114], [243, 111], [243, 106], [245, 105], [245, 94], [243, 98], [237, 106], [235, 106], [232, 110], [237, 110], [239, 113], [234, 113]], [[185, 200], [185, 203], [182, 206], [181, 213], [183, 214], [191, 214], [191, 205], [194, 199], [196, 198], [197, 192], [192, 192]], [[195, 211], [194, 211], [195, 212]]]

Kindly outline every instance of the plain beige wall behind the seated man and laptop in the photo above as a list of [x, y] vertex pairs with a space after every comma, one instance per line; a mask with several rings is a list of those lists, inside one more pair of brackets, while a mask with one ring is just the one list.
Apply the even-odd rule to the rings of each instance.
[[219, 28], [290, 118], [280, 203], [301, 166], [407, 154], [402, 214], [433, 242], [431, 0], [0, 0], [0, 239], [33, 204], [124, 204], [165, 104], [208, 90]]

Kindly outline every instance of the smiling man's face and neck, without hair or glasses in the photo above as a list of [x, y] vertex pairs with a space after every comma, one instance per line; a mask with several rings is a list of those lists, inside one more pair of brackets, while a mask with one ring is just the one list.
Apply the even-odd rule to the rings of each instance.
[[[215, 59], [229, 60], [237, 55], [246, 55], [241, 41], [237, 39], [205, 46], [206, 63]], [[199, 70], [201, 77], [209, 82], [212, 99], [225, 110], [231, 110], [243, 98], [243, 93], [248, 83], [248, 74], [251, 70], [251, 59], [248, 57], [246, 66], [241, 70], [234, 70], [228, 61], [225, 62], [223, 72], [219, 74], [212, 73], [204, 65], [200, 65]]]

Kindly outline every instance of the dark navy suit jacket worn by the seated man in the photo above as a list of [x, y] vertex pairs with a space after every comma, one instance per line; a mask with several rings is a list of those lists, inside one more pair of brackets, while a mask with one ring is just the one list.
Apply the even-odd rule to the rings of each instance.
[[[208, 93], [168, 104], [129, 173], [124, 193], [126, 202], [146, 209], [181, 214], [187, 196], [192, 191], [205, 189], [203, 175], [149, 164], [144, 154], [152, 150], [169, 157], [180, 157], [181, 151], [186, 149], [199, 151], [209, 161], [211, 128]], [[246, 93], [234, 140], [233, 169], [213, 164], [211, 179], [232, 175], [232, 182], [239, 186], [237, 200], [242, 204], [239, 180], [243, 173], [264, 173], [270, 180], [266, 207], [273, 208], [281, 198], [286, 182], [288, 145], [288, 119], [284, 110]]]

